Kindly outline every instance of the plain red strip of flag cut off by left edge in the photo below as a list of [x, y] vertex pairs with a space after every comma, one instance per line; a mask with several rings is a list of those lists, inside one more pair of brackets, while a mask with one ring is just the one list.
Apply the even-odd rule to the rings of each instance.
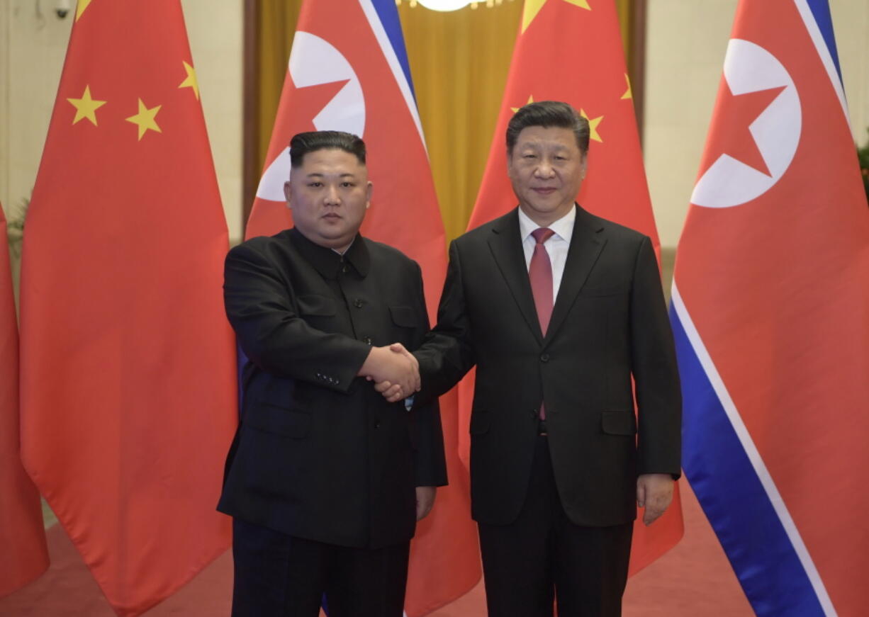
[[18, 430], [18, 324], [0, 208], [0, 597], [49, 567], [39, 493], [21, 465]]

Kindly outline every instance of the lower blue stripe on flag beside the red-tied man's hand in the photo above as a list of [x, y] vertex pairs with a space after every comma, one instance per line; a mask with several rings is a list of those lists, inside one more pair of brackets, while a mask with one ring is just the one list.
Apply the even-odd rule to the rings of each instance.
[[812, 583], [670, 308], [684, 400], [682, 463], [758, 617], [823, 617]]

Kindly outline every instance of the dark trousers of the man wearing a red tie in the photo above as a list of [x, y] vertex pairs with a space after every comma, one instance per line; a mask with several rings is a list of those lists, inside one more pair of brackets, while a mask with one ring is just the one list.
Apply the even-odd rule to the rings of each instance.
[[618, 617], [634, 524], [579, 527], [537, 438], [525, 504], [510, 525], [479, 524], [489, 617]]

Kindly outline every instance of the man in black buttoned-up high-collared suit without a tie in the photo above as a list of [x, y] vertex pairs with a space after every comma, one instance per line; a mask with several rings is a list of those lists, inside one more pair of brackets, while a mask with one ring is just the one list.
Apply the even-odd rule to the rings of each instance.
[[229, 251], [224, 300], [249, 362], [218, 509], [234, 517], [236, 617], [400, 617], [415, 522], [446, 484], [436, 401], [408, 411], [366, 377], [418, 387], [390, 351], [428, 331], [420, 267], [359, 235], [365, 144], [290, 142], [295, 227]]

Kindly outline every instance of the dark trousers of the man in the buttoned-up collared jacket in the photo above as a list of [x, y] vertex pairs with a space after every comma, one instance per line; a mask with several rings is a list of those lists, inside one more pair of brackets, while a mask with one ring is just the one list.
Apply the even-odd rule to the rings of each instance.
[[410, 542], [339, 547], [233, 519], [233, 617], [401, 617]]

